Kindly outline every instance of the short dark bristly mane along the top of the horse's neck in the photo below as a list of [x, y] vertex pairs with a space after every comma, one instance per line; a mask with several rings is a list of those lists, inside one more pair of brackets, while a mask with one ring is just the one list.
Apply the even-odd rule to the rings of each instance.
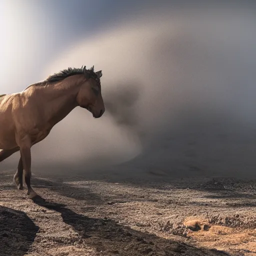
[[[90, 73], [90, 76], [97, 76], [95, 73], [94, 73], [94, 66], [92, 66], [90, 69], [87, 69]], [[51, 82], [57, 82], [59, 80], [63, 80], [65, 79], [66, 77], [68, 76], [71, 76], [71, 75], [75, 75], [75, 74], [83, 74], [83, 66], [82, 67], [68, 67], [66, 69], [63, 69], [57, 73], [54, 73], [52, 75], [49, 75], [45, 81], [48, 82], [48, 83], [51, 83]]]

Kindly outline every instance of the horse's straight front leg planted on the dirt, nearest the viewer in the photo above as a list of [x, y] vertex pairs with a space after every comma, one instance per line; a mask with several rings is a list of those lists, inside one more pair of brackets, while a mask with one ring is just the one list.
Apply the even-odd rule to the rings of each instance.
[[33, 198], [36, 196], [36, 192], [32, 189], [31, 181], [31, 145], [30, 143], [23, 143], [20, 145], [20, 155], [25, 171], [25, 182], [27, 185], [27, 196]]

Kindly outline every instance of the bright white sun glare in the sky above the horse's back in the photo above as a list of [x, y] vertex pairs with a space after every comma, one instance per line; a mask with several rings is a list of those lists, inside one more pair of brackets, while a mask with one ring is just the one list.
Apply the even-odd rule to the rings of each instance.
[[26, 71], [40, 54], [46, 25], [39, 14], [32, 1], [0, 0], [0, 93], [15, 92], [27, 81]]

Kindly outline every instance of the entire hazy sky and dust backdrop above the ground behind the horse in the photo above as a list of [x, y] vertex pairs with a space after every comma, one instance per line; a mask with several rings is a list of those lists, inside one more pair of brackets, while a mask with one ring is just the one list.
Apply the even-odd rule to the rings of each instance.
[[0, 11], [0, 93], [67, 66], [103, 73], [104, 115], [74, 109], [34, 146], [34, 165], [254, 170], [255, 2], [0, 0]]

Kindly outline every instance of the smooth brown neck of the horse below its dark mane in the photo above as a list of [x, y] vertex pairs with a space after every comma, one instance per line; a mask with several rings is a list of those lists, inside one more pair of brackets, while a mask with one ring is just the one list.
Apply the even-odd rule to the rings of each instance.
[[44, 102], [45, 119], [50, 126], [62, 120], [73, 108], [77, 106], [76, 96], [79, 86], [72, 79], [64, 79], [55, 84], [46, 85], [42, 92]]

